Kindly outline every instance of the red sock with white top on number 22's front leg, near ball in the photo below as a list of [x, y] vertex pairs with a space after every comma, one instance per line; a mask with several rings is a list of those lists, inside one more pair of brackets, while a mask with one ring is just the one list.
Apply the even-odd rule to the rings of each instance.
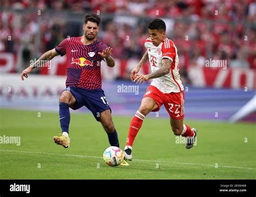
[[126, 146], [132, 146], [139, 129], [142, 127], [142, 123], [145, 116], [139, 111], [136, 112], [135, 116], [132, 118], [128, 138], [126, 140]]

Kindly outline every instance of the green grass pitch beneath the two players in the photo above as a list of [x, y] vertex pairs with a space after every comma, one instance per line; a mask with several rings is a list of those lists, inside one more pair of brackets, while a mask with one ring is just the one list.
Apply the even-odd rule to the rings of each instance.
[[[38, 117], [39, 116], [39, 117]], [[113, 116], [123, 149], [132, 117]], [[198, 129], [197, 145], [185, 149], [169, 119], [147, 117], [133, 144], [130, 166], [107, 166], [109, 146], [92, 114], [71, 110], [69, 149], [53, 143], [61, 133], [56, 112], [0, 109], [0, 179], [255, 179], [256, 131], [252, 123], [186, 121]]]

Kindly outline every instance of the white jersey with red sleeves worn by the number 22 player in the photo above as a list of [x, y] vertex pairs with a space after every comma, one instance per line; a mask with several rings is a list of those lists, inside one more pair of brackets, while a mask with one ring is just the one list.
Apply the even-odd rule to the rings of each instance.
[[149, 54], [152, 72], [157, 71], [163, 66], [163, 58], [172, 60], [170, 72], [160, 78], [154, 78], [151, 85], [157, 87], [164, 94], [171, 92], [179, 93], [181, 90], [184, 90], [179, 75], [179, 57], [177, 48], [173, 41], [165, 38], [158, 46], [154, 46], [152, 40], [147, 38], [145, 40], [145, 47], [147, 49], [147, 54]]

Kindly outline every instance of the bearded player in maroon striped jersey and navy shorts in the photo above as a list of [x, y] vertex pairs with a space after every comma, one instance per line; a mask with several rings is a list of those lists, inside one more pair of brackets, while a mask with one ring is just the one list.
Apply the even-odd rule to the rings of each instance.
[[69, 108], [76, 110], [83, 106], [87, 107], [102, 123], [109, 138], [111, 146], [118, 146], [117, 131], [111, 117], [111, 109], [102, 90], [100, 76], [100, 61], [104, 60], [109, 67], [114, 67], [115, 62], [111, 57], [112, 48], [96, 40], [99, 32], [100, 18], [95, 14], [85, 15], [84, 35], [64, 39], [56, 48], [44, 53], [35, 64], [24, 69], [21, 78], [28, 78], [33, 68], [41, 66], [43, 60], [51, 60], [57, 55], [67, 55], [68, 76], [66, 88], [59, 97], [59, 120], [62, 128], [62, 136], [55, 136], [56, 144], [67, 148], [70, 145]]

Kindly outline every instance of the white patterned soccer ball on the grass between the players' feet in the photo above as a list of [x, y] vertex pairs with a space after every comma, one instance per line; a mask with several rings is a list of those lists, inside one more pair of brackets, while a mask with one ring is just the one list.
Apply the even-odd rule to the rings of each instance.
[[109, 166], [118, 166], [124, 159], [123, 151], [117, 146], [108, 147], [103, 153], [103, 159]]

